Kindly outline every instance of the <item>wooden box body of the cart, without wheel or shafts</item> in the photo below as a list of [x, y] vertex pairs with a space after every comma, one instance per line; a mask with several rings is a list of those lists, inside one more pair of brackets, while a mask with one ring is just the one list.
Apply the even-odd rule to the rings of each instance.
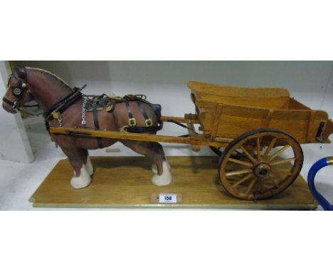
[[211, 140], [235, 138], [250, 130], [271, 127], [288, 132], [301, 144], [329, 142], [333, 126], [327, 113], [290, 98], [286, 89], [200, 82], [189, 82], [188, 86], [203, 134]]

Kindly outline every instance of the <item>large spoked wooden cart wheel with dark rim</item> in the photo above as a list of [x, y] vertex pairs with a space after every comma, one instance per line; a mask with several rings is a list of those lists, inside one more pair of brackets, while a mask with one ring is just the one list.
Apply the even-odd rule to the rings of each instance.
[[[235, 152], [238, 159], [233, 158]], [[265, 199], [287, 189], [302, 164], [302, 148], [294, 137], [281, 130], [253, 130], [224, 150], [219, 161], [220, 182], [240, 199]]]

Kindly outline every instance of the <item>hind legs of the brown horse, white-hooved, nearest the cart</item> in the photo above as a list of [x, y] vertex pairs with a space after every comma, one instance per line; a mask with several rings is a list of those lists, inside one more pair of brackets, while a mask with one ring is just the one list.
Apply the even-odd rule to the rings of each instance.
[[[158, 142], [122, 141], [122, 143], [135, 152], [149, 157], [157, 165], [157, 172], [152, 177], [152, 183], [157, 186], [165, 186], [172, 182], [171, 167], [166, 162], [162, 145]], [[154, 172], [154, 167], [152, 168]]]

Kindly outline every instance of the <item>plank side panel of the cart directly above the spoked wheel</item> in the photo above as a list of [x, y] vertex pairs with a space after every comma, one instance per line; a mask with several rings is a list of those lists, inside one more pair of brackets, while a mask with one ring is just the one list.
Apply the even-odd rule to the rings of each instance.
[[327, 113], [320, 110], [269, 110], [216, 103], [216, 107], [217, 105], [221, 107], [219, 115], [216, 111], [207, 110], [203, 120], [205, 133], [212, 138], [235, 138], [250, 130], [271, 127], [290, 133], [300, 143], [317, 142], [320, 122], [328, 119]]

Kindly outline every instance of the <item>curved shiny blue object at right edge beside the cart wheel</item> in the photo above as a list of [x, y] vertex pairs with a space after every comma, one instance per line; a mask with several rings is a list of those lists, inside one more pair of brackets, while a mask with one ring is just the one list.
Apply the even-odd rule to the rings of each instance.
[[333, 211], [333, 206], [322, 196], [322, 194], [319, 194], [316, 187], [314, 187], [314, 177], [320, 169], [331, 164], [333, 164], [333, 157], [319, 159], [318, 162], [312, 165], [309, 174], [307, 174], [307, 184], [309, 185], [310, 191], [324, 211]]

